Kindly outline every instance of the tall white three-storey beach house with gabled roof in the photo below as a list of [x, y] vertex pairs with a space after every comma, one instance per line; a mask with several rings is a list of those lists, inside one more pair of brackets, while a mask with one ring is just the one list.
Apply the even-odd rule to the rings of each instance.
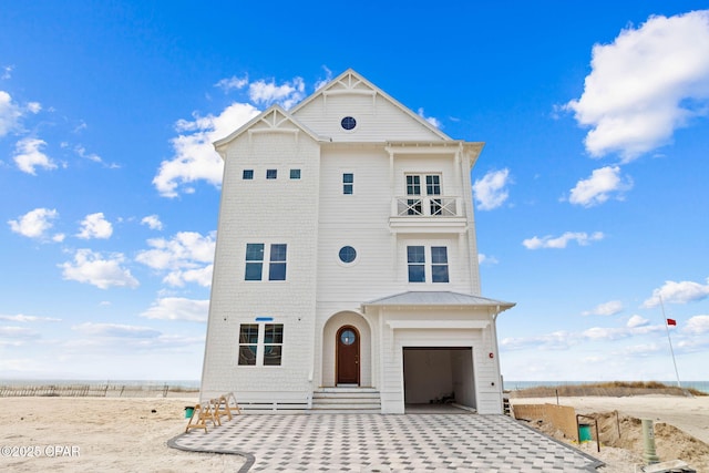
[[471, 168], [352, 70], [215, 143], [224, 158], [202, 399], [242, 408], [502, 412]]

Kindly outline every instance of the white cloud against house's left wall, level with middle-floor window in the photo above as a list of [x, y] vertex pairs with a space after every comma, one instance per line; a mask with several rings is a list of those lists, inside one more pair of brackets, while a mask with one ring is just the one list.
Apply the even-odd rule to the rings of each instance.
[[135, 260], [153, 269], [166, 270], [164, 282], [172, 286], [197, 282], [205, 287], [212, 284], [214, 234], [202, 236], [196, 232], [181, 232], [169, 240], [148, 239], [147, 245], [152, 249], [140, 251]]

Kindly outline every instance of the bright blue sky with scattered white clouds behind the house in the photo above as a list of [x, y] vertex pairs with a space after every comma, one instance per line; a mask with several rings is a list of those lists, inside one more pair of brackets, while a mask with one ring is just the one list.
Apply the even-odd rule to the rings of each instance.
[[705, 2], [6, 3], [0, 378], [198, 379], [210, 142], [348, 68], [486, 142], [507, 380], [709, 378]]

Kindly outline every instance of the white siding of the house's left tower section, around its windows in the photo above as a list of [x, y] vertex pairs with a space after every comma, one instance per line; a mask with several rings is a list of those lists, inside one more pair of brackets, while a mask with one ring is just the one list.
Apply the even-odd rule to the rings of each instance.
[[[278, 171], [266, 179], [266, 169]], [[300, 179], [290, 179], [299, 168]], [[243, 179], [254, 169], [254, 179]], [[229, 146], [222, 192], [202, 397], [300, 400], [311, 392], [319, 146], [292, 134], [244, 135]], [[247, 243], [287, 244], [285, 281], [246, 281]], [[264, 261], [267, 278], [268, 261]], [[238, 366], [240, 323], [284, 323], [280, 367]], [[259, 388], [260, 387], [260, 388]], [[255, 389], [256, 388], [256, 389]], [[257, 392], [258, 391], [258, 392]], [[270, 392], [266, 394], [265, 392]]]

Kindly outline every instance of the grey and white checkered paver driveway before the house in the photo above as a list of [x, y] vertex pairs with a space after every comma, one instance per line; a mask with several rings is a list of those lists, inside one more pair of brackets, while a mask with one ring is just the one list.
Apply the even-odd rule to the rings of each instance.
[[168, 445], [242, 472], [593, 472], [598, 460], [505, 415], [244, 414]]

